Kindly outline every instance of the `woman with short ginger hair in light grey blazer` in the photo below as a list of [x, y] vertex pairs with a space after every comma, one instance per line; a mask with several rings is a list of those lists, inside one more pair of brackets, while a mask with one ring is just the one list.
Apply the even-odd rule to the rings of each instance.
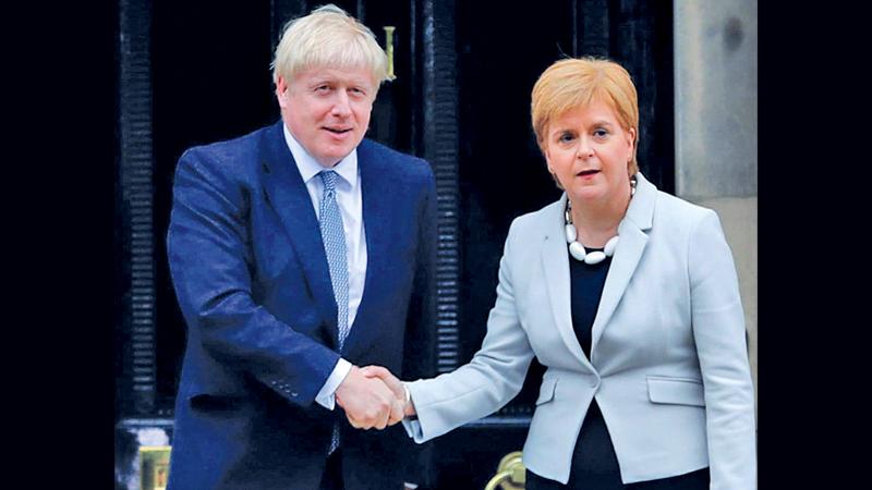
[[[481, 350], [405, 383], [403, 425], [423, 442], [492, 414], [536, 356], [547, 370], [528, 489], [753, 489], [753, 387], [717, 215], [639, 172], [637, 93], [620, 65], [560, 60], [531, 109], [565, 193], [512, 222]], [[365, 371], [403, 393], [386, 369]]]

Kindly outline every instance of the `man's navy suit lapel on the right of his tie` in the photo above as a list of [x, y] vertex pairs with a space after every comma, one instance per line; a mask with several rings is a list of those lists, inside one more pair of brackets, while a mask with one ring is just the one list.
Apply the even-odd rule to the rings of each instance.
[[[364, 139], [358, 146], [358, 169], [361, 174], [361, 198], [363, 200], [363, 223], [366, 234], [366, 278], [363, 283], [363, 296], [358, 306], [358, 315], [354, 323], [351, 324], [348, 338], [346, 339], [342, 353], [349, 353], [352, 357], [353, 348], [358, 345], [372, 345], [373, 336], [378, 333], [377, 329], [365, 328], [372, 326], [367, 321], [373, 297], [377, 297], [380, 292], [378, 278], [384, 278], [390, 273], [388, 260], [388, 240], [390, 236], [389, 223], [391, 223], [390, 187], [384, 179], [385, 173], [380, 172], [378, 157], [373, 152], [372, 146]], [[368, 301], [367, 301], [368, 299]]]

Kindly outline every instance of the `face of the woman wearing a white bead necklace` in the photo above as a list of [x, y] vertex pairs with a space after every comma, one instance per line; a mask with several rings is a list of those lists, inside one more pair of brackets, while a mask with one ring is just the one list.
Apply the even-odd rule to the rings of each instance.
[[570, 110], [547, 125], [545, 159], [573, 203], [629, 198], [628, 168], [635, 130], [625, 131], [600, 100]]

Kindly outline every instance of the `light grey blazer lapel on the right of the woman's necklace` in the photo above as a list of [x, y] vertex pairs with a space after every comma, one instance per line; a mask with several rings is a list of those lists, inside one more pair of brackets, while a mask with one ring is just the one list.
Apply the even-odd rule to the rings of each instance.
[[627, 215], [618, 225], [618, 248], [611, 259], [600, 307], [593, 321], [591, 357], [596, 352], [596, 344], [603, 336], [603, 330], [608, 326], [608, 320], [615, 313], [630, 279], [635, 271], [639, 260], [647, 245], [647, 233], [654, 217], [654, 204], [657, 197], [657, 187], [647, 182], [641, 173], [637, 173], [638, 185], [635, 195], [630, 200]]

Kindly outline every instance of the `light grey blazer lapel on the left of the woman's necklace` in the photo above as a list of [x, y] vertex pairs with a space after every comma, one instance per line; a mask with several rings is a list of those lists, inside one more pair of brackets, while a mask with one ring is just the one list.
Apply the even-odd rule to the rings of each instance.
[[564, 339], [569, 352], [583, 365], [593, 370], [581, 344], [572, 328], [572, 296], [569, 278], [569, 253], [566, 246], [564, 231], [564, 209], [566, 208], [566, 194], [562, 195], [553, 209], [549, 209], [545, 219], [545, 241], [542, 244], [542, 267], [545, 272], [545, 284], [548, 287], [552, 314], [557, 331]]

